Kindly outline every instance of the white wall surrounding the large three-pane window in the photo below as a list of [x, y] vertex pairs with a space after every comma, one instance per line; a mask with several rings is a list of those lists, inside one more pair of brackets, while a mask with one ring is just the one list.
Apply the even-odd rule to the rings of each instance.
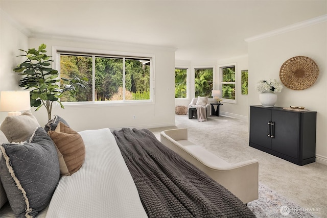
[[[38, 47], [41, 43], [47, 45], [48, 55], [52, 55], [52, 46], [69, 46], [94, 50], [131, 52], [155, 55], [155, 104], [126, 106], [87, 106], [59, 105], [53, 108], [53, 115], [58, 114], [67, 120], [76, 131], [109, 127], [153, 128], [175, 125], [174, 117], [174, 67], [175, 50], [162, 47], [140, 46], [109, 42], [58, 40], [46, 38], [29, 38], [30, 47]], [[34, 115], [40, 124], [48, 120], [45, 108]], [[136, 118], [133, 119], [133, 116]]]

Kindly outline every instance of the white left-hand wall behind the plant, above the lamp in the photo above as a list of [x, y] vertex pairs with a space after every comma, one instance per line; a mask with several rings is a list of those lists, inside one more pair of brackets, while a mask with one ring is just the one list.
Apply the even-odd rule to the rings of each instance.
[[[12, 69], [24, 61], [16, 56], [20, 55], [18, 49], [28, 47], [28, 37], [18, 28], [0, 9], [0, 91], [21, 89], [18, 86], [20, 77]], [[7, 112], [0, 112], [0, 123], [7, 114]]]

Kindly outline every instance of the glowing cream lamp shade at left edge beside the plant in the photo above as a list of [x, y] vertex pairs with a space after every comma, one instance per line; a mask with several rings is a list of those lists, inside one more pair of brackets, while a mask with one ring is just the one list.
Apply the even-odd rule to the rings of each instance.
[[31, 109], [29, 91], [1, 91], [0, 111], [24, 111]]

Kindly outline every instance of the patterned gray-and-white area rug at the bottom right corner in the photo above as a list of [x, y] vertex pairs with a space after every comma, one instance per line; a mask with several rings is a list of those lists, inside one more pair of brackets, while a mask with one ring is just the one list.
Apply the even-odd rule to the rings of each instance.
[[285, 197], [259, 184], [259, 199], [247, 204], [248, 208], [258, 218], [280, 218], [280, 217], [317, 217], [313, 213], [319, 212], [319, 208], [303, 208]]

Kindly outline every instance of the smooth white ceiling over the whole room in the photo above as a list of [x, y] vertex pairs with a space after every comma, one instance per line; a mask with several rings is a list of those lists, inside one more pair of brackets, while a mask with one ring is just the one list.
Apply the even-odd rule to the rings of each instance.
[[29, 36], [78, 37], [176, 48], [176, 60], [247, 54], [244, 39], [327, 13], [327, 0], [0, 0]]

